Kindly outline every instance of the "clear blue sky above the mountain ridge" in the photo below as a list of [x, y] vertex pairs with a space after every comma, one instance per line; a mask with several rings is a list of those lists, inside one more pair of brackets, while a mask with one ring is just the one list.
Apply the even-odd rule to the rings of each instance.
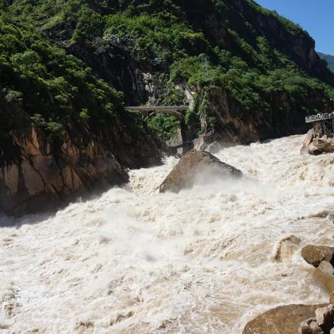
[[334, 0], [255, 0], [308, 31], [315, 48], [334, 56]]

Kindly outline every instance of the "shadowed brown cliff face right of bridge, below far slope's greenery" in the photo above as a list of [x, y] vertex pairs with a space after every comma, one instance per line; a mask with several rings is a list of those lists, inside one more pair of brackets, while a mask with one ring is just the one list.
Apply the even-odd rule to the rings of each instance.
[[[301, 134], [308, 130], [301, 105], [303, 101], [293, 100], [287, 93], [268, 95], [268, 109], [246, 111], [226, 90], [212, 88], [207, 93], [207, 108], [201, 117], [201, 127], [211, 141], [251, 143], [267, 138]], [[308, 104], [314, 109], [324, 108], [323, 95], [315, 90], [308, 97]], [[331, 106], [326, 106], [329, 111]], [[207, 120], [216, 120], [214, 129]]]

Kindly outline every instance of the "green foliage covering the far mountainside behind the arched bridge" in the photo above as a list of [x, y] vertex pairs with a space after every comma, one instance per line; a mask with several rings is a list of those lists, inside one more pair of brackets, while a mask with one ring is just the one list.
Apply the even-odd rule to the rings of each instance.
[[[184, 91], [193, 92], [187, 119], [198, 132], [225, 127], [221, 111], [212, 112], [222, 109], [212, 104], [217, 94], [237, 109], [232, 118], [263, 116], [258, 137], [296, 131], [333, 97], [334, 76], [308, 33], [252, 0], [15, 0], [10, 12], [86, 61], [129, 103], [182, 103]], [[284, 124], [272, 118], [290, 114]], [[150, 125], [161, 129], [161, 116]], [[239, 136], [241, 129], [228, 126]]]

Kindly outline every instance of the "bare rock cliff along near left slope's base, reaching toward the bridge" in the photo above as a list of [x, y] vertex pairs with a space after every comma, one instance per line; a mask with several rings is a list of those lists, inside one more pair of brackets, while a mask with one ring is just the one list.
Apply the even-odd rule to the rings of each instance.
[[13, 108], [22, 125], [16, 124], [16, 129], [13, 127], [3, 138], [6, 145], [0, 152], [0, 211], [5, 214], [49, 212], [64, 207], [78, 197], [128, 182], [127, 166], [159, 162], [154, 141], [147, 137], [134, 143], [129, 129], [123, 129], [119, 136], [122, 145], [117, 139], [112, 141], [115, 129], [86, 138], [82, 131], [72, 129], [61, 147], [54, 149], [22, 110], [6, 107]]

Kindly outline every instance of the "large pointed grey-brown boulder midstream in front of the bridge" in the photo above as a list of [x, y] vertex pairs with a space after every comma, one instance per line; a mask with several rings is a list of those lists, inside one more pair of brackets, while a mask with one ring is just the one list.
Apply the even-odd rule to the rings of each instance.
[[191, 150], [177, 163], [160, 185], [160, 192], [179, 192], [189, 189], [196, 182], [209, 182], [229, 177], [241, 177], [239, 169], [234, 168], [209, 152]]

